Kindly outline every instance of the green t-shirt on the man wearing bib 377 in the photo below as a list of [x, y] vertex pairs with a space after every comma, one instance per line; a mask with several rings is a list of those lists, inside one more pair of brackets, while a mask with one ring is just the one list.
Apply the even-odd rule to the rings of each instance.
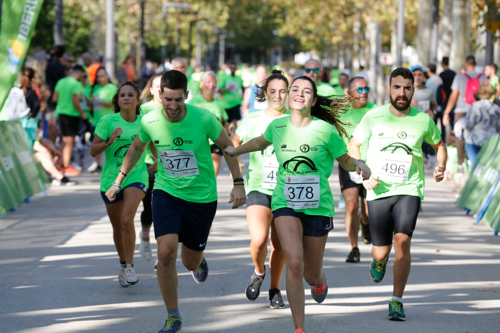
[[190, 202], [217, 200], [215, 170], [208, 139], [216, 140], [222, 125], [213, 113], [185, 104], [184, 119], [171, 123], [162, 109], [150, 111], [140, 122], [139, 139], [158, 149], [158, 171], [153, 189]]

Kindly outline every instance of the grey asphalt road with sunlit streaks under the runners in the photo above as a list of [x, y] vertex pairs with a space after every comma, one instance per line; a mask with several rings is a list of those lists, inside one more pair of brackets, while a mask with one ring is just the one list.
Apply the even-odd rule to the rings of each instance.
[[[52, 187], [47, 196], [32, 197], [0, 220], [0, 332], [157, 332], [166, 310], [152, 269], [155, 242], [150, 262], [140, 258], [136, 246], [140, 283], [120, 287], [98, 176], [74, 179], [78, 185]], [[253, 265], [245, 211], [227, 203], [226, 167], [217, 181], [219, 205], [205, 251], [207, 281], [196, 285], [177, 261], [182, 332], [293, 332], [284, 274], [284, 310], [268, 308], [269, 279], [259, 299], [246, 299]], [[336, 168], [330, 183], [336, 203]], [[324, 303], [316, 304], [304, 283], [306, 332], [500, 332], [500, 237], [456, 208], [455, 193], [451, 182], [427, 178], [403, 297], [406, 322], [387, 320], [393, 254], [380, 284], [369, 277], [370, 245], [360, 241], [361, 262], [345, 263], [350, 249], [344, 212], [336, 209], [324, 254], [329, 287]]]

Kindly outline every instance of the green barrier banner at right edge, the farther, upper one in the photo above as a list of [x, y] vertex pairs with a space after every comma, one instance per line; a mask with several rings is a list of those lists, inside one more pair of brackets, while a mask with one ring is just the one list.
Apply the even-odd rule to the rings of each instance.
[[456, 206], [477, 212], [500, 172], [500, 135], [491, 136], [482, 146]]

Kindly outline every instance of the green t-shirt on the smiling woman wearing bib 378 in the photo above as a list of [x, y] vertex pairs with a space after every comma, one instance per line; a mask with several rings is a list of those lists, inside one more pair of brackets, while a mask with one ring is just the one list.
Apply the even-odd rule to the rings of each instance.
[[296, 128], [290, 117], [282, 117], [267, 126], [264, 139], [273, 144], [279, 162], [272, 210], [302, 205], [304, 208], [290, 208], [309, 215], [333, 216], [328, 177], [333, 160], [347, 153], [335, 127], [313, 117], [307, 127]]

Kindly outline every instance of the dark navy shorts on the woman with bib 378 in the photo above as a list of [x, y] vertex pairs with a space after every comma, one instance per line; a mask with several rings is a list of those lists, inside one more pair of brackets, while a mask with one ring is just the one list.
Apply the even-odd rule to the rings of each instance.
[[276, 220], [279, 216], [293, 216], [302, 222], [302, 229], [305, 236], [321, 237], [333, 229], [333, 219], [322, 215], [307, 215], [296, 212], [291, 208], [283, 207], [272, 211], [272, 218]]

